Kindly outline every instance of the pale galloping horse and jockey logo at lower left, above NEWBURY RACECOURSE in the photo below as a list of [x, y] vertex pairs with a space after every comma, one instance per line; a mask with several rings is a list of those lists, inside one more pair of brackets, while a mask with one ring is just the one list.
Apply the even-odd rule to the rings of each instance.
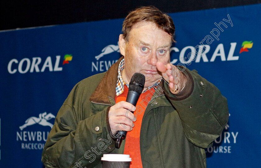
[[20, 126], [19, 128], [23, 130], [25, 127], [29, 125], [34, 125], [34, 124], [39, 124], [43, 126], [50, 126], [51, 128], [53, 127], [53, 124], [47, 122], [47, 120], [50, 120], [52, 118], [55, 118], [55, 116], [52, 113], [47, 114], [46, 112], [40, 113], [39, 118], [37, 117], [30, 117], [25, 121], [25, 124]]

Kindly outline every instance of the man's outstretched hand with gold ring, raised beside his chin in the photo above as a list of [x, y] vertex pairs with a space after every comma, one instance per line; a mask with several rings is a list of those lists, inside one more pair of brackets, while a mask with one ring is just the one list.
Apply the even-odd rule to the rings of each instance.
[[157, 69], [162, 73], [164, 80], [169, 83], [171, 93], [178, 94], [185, 88], [187, 78], [178, 68], [172, 64], [164, 65], [157, 62]]

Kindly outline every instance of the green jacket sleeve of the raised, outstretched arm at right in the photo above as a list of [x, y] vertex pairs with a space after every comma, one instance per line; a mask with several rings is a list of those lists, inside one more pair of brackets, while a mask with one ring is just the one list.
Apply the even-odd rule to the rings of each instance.
[[227, 99], [196, 70], [185, 69], [183, 74], [188, 79], [187, 83], [190, 82], [188, 94], [175, 96], [166, 82], [163, 83], [163, 90], [179, 113], [188, 141], [200, 148], [207, 148], [227, 124]]

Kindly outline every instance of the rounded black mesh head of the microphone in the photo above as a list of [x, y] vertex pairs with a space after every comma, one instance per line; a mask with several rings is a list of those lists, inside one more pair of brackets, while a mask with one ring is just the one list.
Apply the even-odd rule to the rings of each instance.
[[145, 76], [141, 73], [135, 73], [131, 77], [129, 90], [141, 94], [142, 90], [144, 89], [144, 84], [145, 84]]

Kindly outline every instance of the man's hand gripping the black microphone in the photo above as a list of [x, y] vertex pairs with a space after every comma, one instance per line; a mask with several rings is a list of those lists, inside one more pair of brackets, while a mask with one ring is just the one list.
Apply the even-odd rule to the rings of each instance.
[[111, 130], [131, 131], [134, 127], [133, 122], [136, 121], [134, 114], [131, 112], [135, 111], [134, 109], [135, 106], [125, 101], [118, 102], [110, 107], [108, 117]]

